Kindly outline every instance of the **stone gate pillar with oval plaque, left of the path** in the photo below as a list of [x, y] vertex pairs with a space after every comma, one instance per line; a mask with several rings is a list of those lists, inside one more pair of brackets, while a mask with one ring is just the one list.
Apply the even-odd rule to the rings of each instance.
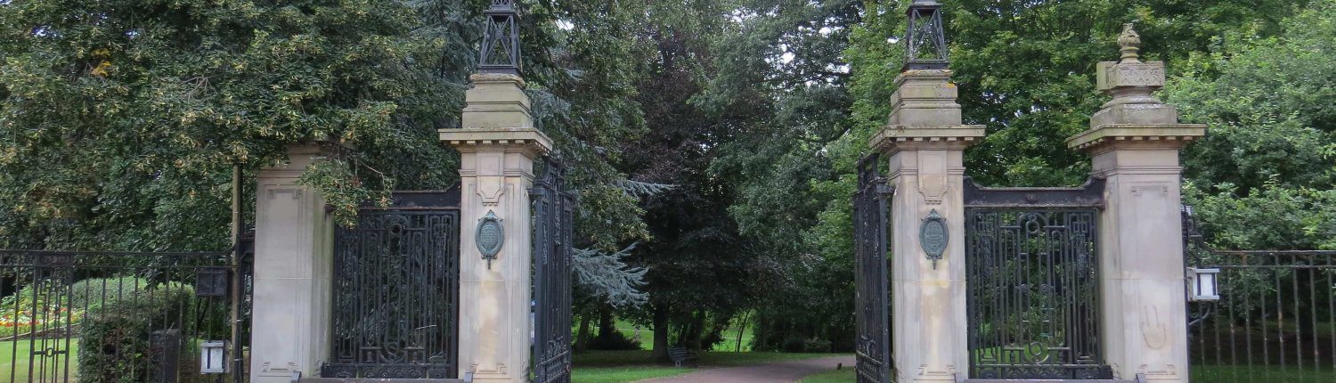
[[[533, 128], [524, 80], [474, 75], [464, 128], [441, 129], [460, 151], [460, 359], [474, 382], [528, 382], [532, 236], [529, 187], [534, 160], [552, 140]], [[504, 244], [482, 258], [476, 234], [488, 214], [501, 219]]]

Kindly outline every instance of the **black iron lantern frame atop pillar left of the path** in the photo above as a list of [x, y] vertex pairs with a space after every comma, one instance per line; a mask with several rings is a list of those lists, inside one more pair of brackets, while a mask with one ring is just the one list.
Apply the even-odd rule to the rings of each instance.
[[488, 27], [482, 32], [480, 72], [520, 75], [520, 13], [514, 0], [492, 0], [482, 15]]

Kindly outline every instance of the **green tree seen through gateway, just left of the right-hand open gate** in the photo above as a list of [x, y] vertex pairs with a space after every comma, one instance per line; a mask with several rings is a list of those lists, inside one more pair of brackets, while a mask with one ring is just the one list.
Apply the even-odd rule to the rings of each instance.
[[733, 137], [711, 172], [736, 189], [728, 214], [758, 252], [749, 284], [758, 350], [803, 350], [814, 338], [851, 347], [852, 252], [823, 247], [838, 239], [810, 230], [848, 210], [826, 183], [838, 172], [830, 148], [854, 127], [843, 53], [863, 13], [862, 1], [740, 1], [715, 39], [708, 87], [693, 99]]

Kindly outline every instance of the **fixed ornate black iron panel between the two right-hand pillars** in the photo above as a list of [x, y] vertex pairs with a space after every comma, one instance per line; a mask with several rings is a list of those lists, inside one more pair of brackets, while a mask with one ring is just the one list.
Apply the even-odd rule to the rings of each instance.
[[1104, 180], [1079, 188], [965, 184], [971, 378], [1112, 379], [1098, 326]]

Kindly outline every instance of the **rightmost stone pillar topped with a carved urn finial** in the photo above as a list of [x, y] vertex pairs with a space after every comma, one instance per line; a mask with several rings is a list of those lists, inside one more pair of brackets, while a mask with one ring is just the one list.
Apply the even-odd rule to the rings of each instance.
[[1092, 116], [1089, 131], [1067, 139], [1106, 179], [1100, 340], [1116, 378], [1188, 382], [1178, 149], [1205, 125], [1180, 124], [1178, 111], [1152, 96], [1164, 87], [1164, 63], [1137, 59], [1130, 25], [1120, 44], [1122, 60], [1097, 68], [1098, 88], [1113, 100]]

